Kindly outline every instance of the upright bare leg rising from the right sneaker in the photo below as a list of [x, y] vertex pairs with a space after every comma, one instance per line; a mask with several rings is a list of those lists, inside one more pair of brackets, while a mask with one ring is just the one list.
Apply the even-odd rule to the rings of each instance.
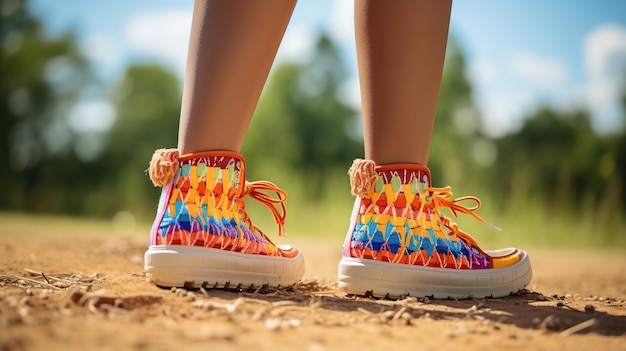
[[426, 164], [437, 110], [449, 0], [356, 0], [365, 157]]

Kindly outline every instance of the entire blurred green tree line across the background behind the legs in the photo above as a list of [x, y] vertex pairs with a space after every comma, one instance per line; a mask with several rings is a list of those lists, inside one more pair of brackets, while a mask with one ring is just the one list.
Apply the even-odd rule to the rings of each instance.
[[[46, 36], [20, 1], [3, 1], [1, 13], [0, 181], [10, 186], [0, 209], [109, 218], [130, 211], [149, 221], [159, 190], [145, 170], [154, 149], [176, 145], [177, 76], [129, 66], [107, 87], [116, 111], [111, 128], [76, 130], [68, 115], [93, 79], [74, 36]], [[307, 217], [311, 204], [345, 207], [343, 198], [324, 197], [325, 188], [348, 193], [337, 184], [348, 189], [346, 170], [363, 156], [358, 111], [341, 99], [347, 76], [337, 47], [320, 35], [306, 61], [274, 68], [244, 145], [249, 179], [299, 184], [296, 211], [306, 208]], [[626, 85], [622, 103], [626, 111]], [[483, 130], [463, 51], [451, 38], [429, 161], [435, 185], [454, 185], [456, 195], [486, 193], [492, 212], [537, 228], [557, 217], [588, 218], [593, 235], [623, 231], [626, 131], [599, 135], [589, 111], [551, 106], [538, 106], [503, 137]], [[104, 145], [96, 157], [81, 157], [96, 142]]]

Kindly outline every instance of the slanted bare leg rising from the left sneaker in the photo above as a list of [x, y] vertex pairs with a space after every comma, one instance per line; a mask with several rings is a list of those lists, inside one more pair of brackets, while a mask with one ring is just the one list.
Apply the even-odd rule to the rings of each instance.
[[178, 150], [241, 149], [295, 0], [197, 0]]

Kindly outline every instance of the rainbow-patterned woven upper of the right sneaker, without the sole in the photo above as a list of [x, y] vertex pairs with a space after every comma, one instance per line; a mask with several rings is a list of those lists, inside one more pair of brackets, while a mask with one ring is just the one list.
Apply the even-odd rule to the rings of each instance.
[[428, 199], [424, 192], [430, 189], [428, 169], [378, 169], [377, 173], [371, 195], [360, 199], [347, 254], [429, 267], [493, 267], [488, 255], [461, 240], [456, 225]]

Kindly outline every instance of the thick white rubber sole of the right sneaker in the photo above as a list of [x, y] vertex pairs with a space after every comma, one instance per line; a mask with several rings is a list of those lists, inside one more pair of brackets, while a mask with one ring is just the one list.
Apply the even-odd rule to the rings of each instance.
[[504, 297], [532, 279], [528, 254], [506, 268], [457, 270], [344, 257], [339, 262], [339, 287], [348, 294], [376, 297], [468, 299]]

